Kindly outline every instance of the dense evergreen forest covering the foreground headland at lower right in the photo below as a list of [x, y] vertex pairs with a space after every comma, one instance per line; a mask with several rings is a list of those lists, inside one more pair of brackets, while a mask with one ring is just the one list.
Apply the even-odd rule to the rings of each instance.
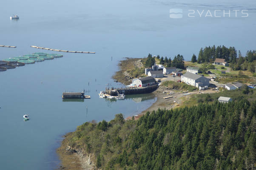
[[253, 170], [256, 101], [157, 110], [139, 120], [122, 114], [86, 122], [69, 136], [72, 147], [94, 154], [98, 168], [127, 170]]

